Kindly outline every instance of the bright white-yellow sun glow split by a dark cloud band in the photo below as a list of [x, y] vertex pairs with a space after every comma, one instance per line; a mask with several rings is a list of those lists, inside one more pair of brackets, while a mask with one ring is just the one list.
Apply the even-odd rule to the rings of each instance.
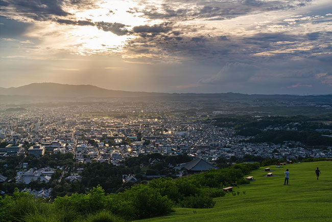
[[[88, 20], [91, 23], [124, 23], [134, 27], [147, 23], [146, 19], [127, 13], [135, 7], [132, 1], [106, 1], [97, 4], [95, 9], [80, 11], [74, 8], [67, 9], [74, 20]], [[157, 21], [154, 21], [156, 23]], [[26, 37], [40, 39], [38, 49], [29, 53], [39, 54], [48, 52], [53, 55], [59, 52], [68, 52], [77, 55], [112, 54], [120, 53], [128, 40], [133, 40], [134, 35], [116, 35], [105, 32], [96, 26], [77, 26], [39, 21], [26, 32]]]

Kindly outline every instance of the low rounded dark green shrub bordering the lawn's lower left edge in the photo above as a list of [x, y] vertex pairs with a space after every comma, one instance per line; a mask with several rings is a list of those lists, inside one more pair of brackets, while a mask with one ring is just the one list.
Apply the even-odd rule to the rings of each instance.
[[185, 208], [212, 208], [216, 202], [208, 195], [195, 195], [184, 197], [179, 204]]

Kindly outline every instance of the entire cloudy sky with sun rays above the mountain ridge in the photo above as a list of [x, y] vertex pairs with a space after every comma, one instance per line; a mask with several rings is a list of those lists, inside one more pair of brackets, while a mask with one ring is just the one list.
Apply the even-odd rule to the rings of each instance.
[[0, 0], [0, 86], [331, 94], [330, 0]]

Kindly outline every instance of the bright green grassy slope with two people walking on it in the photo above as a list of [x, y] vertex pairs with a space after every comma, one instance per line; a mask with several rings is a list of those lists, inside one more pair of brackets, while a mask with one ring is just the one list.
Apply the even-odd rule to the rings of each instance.
[[[322, 175], [316, 180], [315, 169]], [[265, 177], [265, 167], [254, 170], [254, 181], [233, 189], [240, 195], [215, 198], [211, 209], [176, 208], [175, 212], [143, 221], [330, 221], [332, 218], [332, 162], [290, 164], [275, 176]], [[284, 170], [290, 170], [283, 186]], [[245, 194], [243, 194], [245, 191]], [[140, 220], [142, 221], [142, 220]]]

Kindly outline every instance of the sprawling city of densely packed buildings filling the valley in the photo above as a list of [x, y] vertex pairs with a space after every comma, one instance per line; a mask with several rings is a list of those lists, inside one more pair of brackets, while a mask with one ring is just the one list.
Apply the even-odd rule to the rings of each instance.
[[[257, 103], [264, 104], [262, 101], [253, 102], [252, 106], [256, 106]], [[272, 103], [277, 104], [280, 101]], [[226, 107], [225, 104], [227, 100], [220, 106]], [[325, 104], [325, 101], [317, 100], [314, 104], [312, 101], [309, 103], [311, 106], [323, 106], [322, 112], [329, 112], [331, 106], [321, 104]], [[2, 159], [12, 156], [23, 158], [15, 168], [16, 183], [26, 184], [22, 190], [31, 189], [29, 184], [32, 181], [50, 183], [54, 180], [52, 175], [56, 170], [60, 172], [60, 174], [58, 172], [57, 180], [60, 181], [65, 175], [63, 179], [68, 183], [76, 183], [82, 179], [81, 173], [84, 168], [77, 167], [78, 165], [65, 168], [63, 165], [56, 164], [53, 168], [45, 164], [41, 165], [42, 168], [37, 168], [32, 164], [33, 160], [29, 160], [27, 156], [41, 158], [45, 155], [70, 153], [73, 163], [97, 162], [119, 167], [126, 167], [125, 162], [130, 158], [153, 154], [185, 155], [189, 158], [188, 160], [202, 158], [215, 166], [218, 165], [218, 160], [223, 159], [228, 164], [235, 164], [236, 160], [243, 158], [253, 163], [257, 160], [255, 156], [262, 160], [284, 159], [286, 161], [332, 156], [330, 142], [319, 147], [308, 146], [300, 141], [283, 141], [277, 144], [252, 142], [250, 139], [254, 137], [241, 136], [238, 133], [239, 130], [232, 126], [221, 127], [216, 124], [218, 117], [224, 116], [220, 113], [235, 118], [241, 118], [242, 114], [230, 114], [228, 106], [219, 111], [215, 108], [209, 109], [206, 108], [205, 102], [200, 101], [145, 102], [144, 105], [141, 102], [113, 101], [97, 105], [73, 103], [67, 106], [54, 103], [52, 106], [35, 106], [35, 104], [25, 106], [26, 108], [20, 107], [13, 110], [10, 108], [12, 104], [3, 105], [0, 123]], [[194, 106], [196, 106], [195, 111], [193, 111]], [[255, 112], [251, 115], [256, 122], [264, 118]], [[325, 128], [313, 130], [319, 135], [325, 135], [325, 138], [331, 137], [328, 135], [331, 135], [332, 126], [328, 121], [324, 124]], [[290, 121], [283, 126], [267, 126], [262, 131], [297, 131], [300, 127], [299, 122]], [[150, 163], [151, 165], [159, 161], [161, 160], [158, 158], [149, 160], [153, 162]], [[181, 177], [187, 173], [183, 171], [183, 164], [185, 163], [168, 164], [166, 167], [168, 170], [164, 171], [153, 171], [144, 164], [140, 164], [139, 170], [129, 171], [128, 175], [123, 174], [123, 183], [128, 181], [139, 183], [139, 181], [165, 176]], [[136, 174], [139, 174], [139, 180], [136, 179]], [[5, 175], [1, 176], [3, 182], [14, 179], [7, 178]], [[128, 179], [129, 176], [131, 176], [130, 179]], [[52, 190], [52, 187], [44, 186], [33, 192], [37, 196], [42, 192], [43, 197], [48, 198]]]

